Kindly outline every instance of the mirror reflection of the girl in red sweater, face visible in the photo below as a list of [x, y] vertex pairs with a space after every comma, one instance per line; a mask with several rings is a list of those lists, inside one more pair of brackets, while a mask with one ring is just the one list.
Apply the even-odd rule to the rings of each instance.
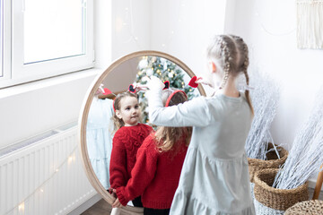
[[[113, 107], [113, 120], [117, 132], [112, 140], [109, 165], [110, 191], [127, 185], [131, 170], [135, 166], [137, 150], [153, 131], [151, 126], [139, 123], [141, 112], [135, 93], [127, 91], [118, 94]], [[136, 207], [143, 207], [139, 195], [130, 200]]]

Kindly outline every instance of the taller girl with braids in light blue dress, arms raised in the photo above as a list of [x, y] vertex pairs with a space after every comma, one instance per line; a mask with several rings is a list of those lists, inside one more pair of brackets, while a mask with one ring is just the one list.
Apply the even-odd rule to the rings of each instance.
[[249, 83], [248, 47], [240, 37], [219, 35], [207, 57], [209, 75], [196, 83], [217, 89], [210, 98], [163, 107], [161, 80], [152, 77], [147, 84], [151, 123], [193, 126], [170, 214], [255, 214], [244, 147], [253, 108], [249, 91], [237, 90], [235, 82], [242, 73]]

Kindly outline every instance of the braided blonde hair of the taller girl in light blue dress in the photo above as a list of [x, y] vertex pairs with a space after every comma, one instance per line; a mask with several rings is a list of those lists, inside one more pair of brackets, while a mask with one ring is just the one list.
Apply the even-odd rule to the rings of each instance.
[[[236, 77], [240, 73], [244, 73], [247, 85], [249, 85], [249, 50], [243, 39], [235, 35], [217, 35], [209, 47], [207, 47], [206, 55], [214, 61], [214, 64], [219, 65], [223, 69], [223, 82], [219, 89], [223, 89], [229, 75]], [[254, 114], [249, 90], [245, 91], [245, 95], [250, 110]]]

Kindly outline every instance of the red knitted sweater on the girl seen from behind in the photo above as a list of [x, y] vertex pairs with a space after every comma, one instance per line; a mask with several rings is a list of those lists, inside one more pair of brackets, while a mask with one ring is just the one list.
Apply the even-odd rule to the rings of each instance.
[[138, 150], [127, 186], [117, 188], [119, 202], [123, 205], [141, 195], [144, 208], [170, 209], [188, 147], [183, 138], [178, 142], [175, 155], [173, 150], [159, 152], [153, 138], [154, 133]]

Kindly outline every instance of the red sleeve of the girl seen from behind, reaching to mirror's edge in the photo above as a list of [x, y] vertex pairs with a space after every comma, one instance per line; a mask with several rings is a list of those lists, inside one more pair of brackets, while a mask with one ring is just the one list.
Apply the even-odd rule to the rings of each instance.
[[147, 143], [153, 143], [151, 136], [148, 136], [139, 148], [136, 156], [135, 168], [131, 171], [131, 178], [127, 186], [117, 188], [119, 202], [127, 205], [127, 202], [144, 193], [145, 188], [152, 182], [157, 167], [157, 154], [152, 153], [154, 148], [147, 147]]

